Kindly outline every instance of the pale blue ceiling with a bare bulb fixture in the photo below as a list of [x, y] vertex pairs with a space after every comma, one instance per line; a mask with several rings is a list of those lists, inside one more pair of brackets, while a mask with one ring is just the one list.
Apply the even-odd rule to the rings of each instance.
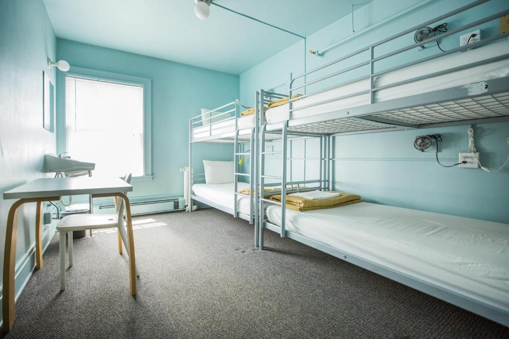
[[[59, 38], [233, 74], [300, 40], [216, 6], [211, 6], [208, 19], [200, 20], [194, 16], [193, 0], [44, 2]], [[352, 4], [352, 0], [215, 2], [302, 36], [348, 15]]]

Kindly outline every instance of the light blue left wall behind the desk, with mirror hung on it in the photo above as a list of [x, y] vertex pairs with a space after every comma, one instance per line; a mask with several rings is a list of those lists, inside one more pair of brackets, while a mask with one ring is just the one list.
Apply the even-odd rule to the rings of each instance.
[[[55, 134], [43, 128], [43, 71], [55, 83], [56, 38], [42, 0], [0, 1], [0, 267], [4, 263], [7, 214], [14, 200], [2, 194], [43, 177]], [[18, 209], [16, 292], [34, 267], [35, 203]]]

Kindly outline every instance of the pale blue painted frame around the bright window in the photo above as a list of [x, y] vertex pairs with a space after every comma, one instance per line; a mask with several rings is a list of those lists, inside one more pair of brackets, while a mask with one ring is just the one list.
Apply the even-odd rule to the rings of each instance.
[[[81, 67], [71, 67], [71, 69], [65, 73], [64, 81], [62, 84], [65, 86], [65, 77], [79, 77], [90, 80], [104, 80], [110, 82], [117, 82], [128, 85], [138, 85], [143, 87], [143, 176], [135, 176], [132, 181], [150, 181], [152, 180], [152, 79], [138, 77], [134, 75], [126, 75], [120, 73], [112, 73], [106, 71], [93, 70]], [[65, 123], [65, 91], [64, 91], [64, 126]], [[65, 129], [64, 129], [65, 133]], [[65, 144], [64, 135], [64, 147]]]

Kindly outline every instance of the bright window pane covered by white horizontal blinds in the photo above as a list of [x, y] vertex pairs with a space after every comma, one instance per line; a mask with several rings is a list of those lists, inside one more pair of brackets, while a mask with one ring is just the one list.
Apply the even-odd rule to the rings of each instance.
[[66, 152], [95, 163], [98, 175], [151, 175], [146, 87], [143, 81], [66, 74]]

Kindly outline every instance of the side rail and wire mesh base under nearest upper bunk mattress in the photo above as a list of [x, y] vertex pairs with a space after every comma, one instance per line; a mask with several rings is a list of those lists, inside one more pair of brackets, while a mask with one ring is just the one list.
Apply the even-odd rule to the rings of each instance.
[[[294, 118], [288, 131], [336, 135], [504, 120], [509, 120], [509, 77]], [[280, 126], [267, 125], [267, 131]]]

